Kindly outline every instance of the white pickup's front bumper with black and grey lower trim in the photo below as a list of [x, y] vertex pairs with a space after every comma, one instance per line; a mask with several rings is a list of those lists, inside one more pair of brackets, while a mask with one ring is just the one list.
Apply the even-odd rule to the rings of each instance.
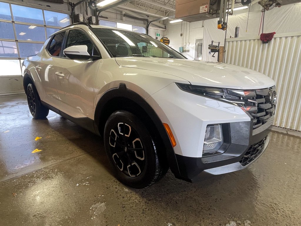
[[[253, 119], [251, 121], [251, 116], [238, 106], [183, 92], [174, 83], [147, 100], [161, 121], [169, 124], [175, 136], [175, 154], [167, 158], [177, 178], [193, 182], [208, 175], [244, 169], [268, 145], [268, 134], [274, 123], [274, 116], [253, 130]], [[219, 154], [204, 156], [203, 141], [209, 124], [222, 124], [224, 144]], [[255, 157], [243, 161], [246, 158], [244, 156], [249, 155], [248, 149], [264, 139], [265, 143]], [[175, 159], [175, 164], [171, 165], [172, 158]]]

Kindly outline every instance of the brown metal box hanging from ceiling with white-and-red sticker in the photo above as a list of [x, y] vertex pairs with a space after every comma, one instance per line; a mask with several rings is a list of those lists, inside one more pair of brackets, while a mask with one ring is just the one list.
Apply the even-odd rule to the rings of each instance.
[[219, 17], [220, 0], [176, 0], [175, 18], [188, 22]]

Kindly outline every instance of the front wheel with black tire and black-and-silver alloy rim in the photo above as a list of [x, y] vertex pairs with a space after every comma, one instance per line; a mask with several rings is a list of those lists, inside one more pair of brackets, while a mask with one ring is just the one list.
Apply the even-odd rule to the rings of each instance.
[[104, 146], [116, 175], [123, 184], [148, 187], [166, 173], [157, 147], [143, 122], [128, 111], [116, 111], [104, 128]]

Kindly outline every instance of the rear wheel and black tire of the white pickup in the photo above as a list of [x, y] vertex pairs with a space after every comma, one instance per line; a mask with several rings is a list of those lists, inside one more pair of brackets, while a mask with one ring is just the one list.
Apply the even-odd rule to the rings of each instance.
[[36, 87], [32, 83], [29, 83], [27, 86], [26, 96], [27, 96], [29, 111], [33, 116], [33, 118], [36, 119], [46, 118], [49, 113], [49, 109], [46, 108], [44, 105], [42, 105], [38, 91], [36, 90]]

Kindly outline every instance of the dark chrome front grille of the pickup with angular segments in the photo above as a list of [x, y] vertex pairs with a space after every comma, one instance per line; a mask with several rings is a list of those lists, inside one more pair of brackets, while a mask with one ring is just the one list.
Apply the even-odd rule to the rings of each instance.
[[219, 93], [207, 94], [237, 104], [253, 117], [253, 129], [265, 124], [275, 113], [275, 86], [265, 89], [237, 90], [220, 89]]

